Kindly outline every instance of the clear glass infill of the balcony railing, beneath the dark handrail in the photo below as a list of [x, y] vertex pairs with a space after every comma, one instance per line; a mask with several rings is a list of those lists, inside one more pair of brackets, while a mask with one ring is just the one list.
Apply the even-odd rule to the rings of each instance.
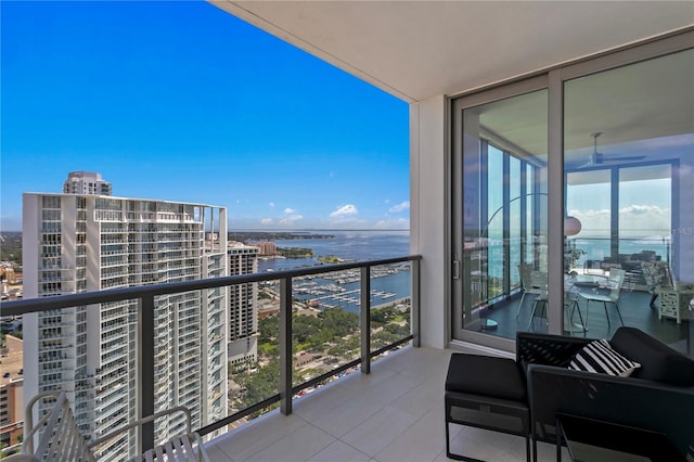
[[[25, 308], [3, 303], [3, 310], [24, 315], [3, 319], [7, 334], [0, 348], [18, 359], [15, 371], [3, 358], [8, 376], [2, 378], [21, 381], [29, 397], [66, 390], [88, 439], [133, 422], [140, 413], [176, 406], [189, 408], [193, 428], [209, 439], [280, 406], [280, 310], [288, 293], [280, 290], [281, 281], [292, 282], [292, 357], [285, 358], [292, 363], [294, 397], [360, 369], [364, 268], [365, 264], [313, 275], [275, 273], [272, 277], [284, 279], [269, 281], [249, 275], [256, 282], [209, 288], [198, 287], [214, 280], [190, 281], [196, 290], [170, 294], [169, 284], [123, 287], [117, 294], [27, 299]], [[412, 268], [407, 261], [368, 272], [370, 306], [376, 307], [372, 351], [410, 334]], [[117, 299], [130, 296], [129, 291], [137, 292], [134, 298]], [[167, 294], [154, 295], [162, 292]], [[61, 308], [75, 298], [100, 303]], [[57, 309], [26, 313], [49, 303]], [[157, 421], [151, 426], [153, 442], [180, 433], [182, 423], [176, 415]], [[15, 435], [10, 448], [18, 449], [21, 439]], [[134, 457], [138, 442], [134, 432], [125, 433], [97, 448], [99, 460]]]

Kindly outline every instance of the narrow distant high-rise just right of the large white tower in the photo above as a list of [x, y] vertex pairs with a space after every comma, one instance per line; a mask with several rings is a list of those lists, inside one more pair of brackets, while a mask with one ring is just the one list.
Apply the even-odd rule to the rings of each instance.
[[[256, 246], [231, 242], [227, 248], [229, 275], [258, 272]], [[229, 287], [229, 361], [236, 364], [258, 357], [258, 284]]]

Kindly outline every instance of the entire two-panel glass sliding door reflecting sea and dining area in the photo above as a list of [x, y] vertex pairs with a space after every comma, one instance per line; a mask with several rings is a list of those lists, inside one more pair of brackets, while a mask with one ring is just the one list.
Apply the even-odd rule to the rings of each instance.
[[694, 356], [691, 43], [452, 101], [453, 339], [511, 349], [517, 331], [609, 338], [628, 325]]

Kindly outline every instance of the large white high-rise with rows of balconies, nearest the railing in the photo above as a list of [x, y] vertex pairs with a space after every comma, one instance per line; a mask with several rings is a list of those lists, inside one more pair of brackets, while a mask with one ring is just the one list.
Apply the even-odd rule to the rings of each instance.
[[[98, 194], [25, 193], [27, 298], [228, 274], [227, 210]], [[155, 411], [185, 406], [193, 426], [227, 415], [228, 292], [155, 298]], [[25, 316], [25, 397], [64, 389], [85, 435], [136, 420], [137, 300]], [[177, 416], [155, 438], [180, 434]], [[103, 460], [133, 457], [136, 435], [111, 441]]]

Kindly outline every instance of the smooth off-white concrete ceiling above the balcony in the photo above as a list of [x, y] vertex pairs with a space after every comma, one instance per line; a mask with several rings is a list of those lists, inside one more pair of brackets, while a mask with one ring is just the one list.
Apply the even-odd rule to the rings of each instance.
[[692, 1], [210, 1], [408, 102], [694, 25]]

